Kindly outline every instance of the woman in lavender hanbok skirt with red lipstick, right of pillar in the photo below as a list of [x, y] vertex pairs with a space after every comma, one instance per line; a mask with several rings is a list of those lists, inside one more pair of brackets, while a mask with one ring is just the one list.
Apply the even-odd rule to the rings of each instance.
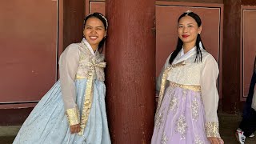
[[202, 22], [188, 10], [178, 18], [178, 44], [158, 77], [151, 144], [221, 144], [218, 64], [200, 38]]

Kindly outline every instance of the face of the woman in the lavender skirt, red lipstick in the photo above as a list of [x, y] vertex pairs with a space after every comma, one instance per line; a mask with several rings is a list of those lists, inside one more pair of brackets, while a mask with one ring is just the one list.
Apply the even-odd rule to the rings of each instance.
[[201, 33], [202, 26], [198, 27], [198, 23], [194, 18], [186, 15], [178, 22], [178, 37], [182, 40], [183, 44], [193, 44], [197, 40], [198, 34]]

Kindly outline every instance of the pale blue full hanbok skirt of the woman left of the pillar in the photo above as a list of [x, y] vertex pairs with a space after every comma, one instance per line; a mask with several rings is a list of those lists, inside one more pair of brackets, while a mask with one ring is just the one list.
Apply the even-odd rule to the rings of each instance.
[[[86, 79], [77, 79], [75, 84], [76, 102], [81, 115]], [[95, 80], [93, 102], [84, 133], [82, 136], [70, 134], [60, 82], [56, 82], [26, 118], [14, 139], [14, 144], [110, 144], [105, 96], [104, 82]]]

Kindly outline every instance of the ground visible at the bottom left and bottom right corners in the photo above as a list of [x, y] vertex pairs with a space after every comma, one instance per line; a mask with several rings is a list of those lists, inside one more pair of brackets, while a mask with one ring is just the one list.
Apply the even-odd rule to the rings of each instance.
[[[234, 131], [241, 122], [240, 115], [219, 114], [220, 133], [225, 144], [238, 144], [234, 136]], [[11, 144], [14, 141], [20, 126], [0, 126], [0, 144]], [[254, 138], [246, 138], [246, 144], [256, 144], [256, 136]]]

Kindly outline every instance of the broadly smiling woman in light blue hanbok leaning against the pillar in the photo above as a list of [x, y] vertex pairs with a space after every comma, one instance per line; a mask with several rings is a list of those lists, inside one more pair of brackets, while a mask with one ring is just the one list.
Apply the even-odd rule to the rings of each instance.
[[106, 119], [104, 56], [107, 20], [86, 16], [84, 38], [60, 57], [60, 80], [23, 123], [14, 144], [110, 144]]

